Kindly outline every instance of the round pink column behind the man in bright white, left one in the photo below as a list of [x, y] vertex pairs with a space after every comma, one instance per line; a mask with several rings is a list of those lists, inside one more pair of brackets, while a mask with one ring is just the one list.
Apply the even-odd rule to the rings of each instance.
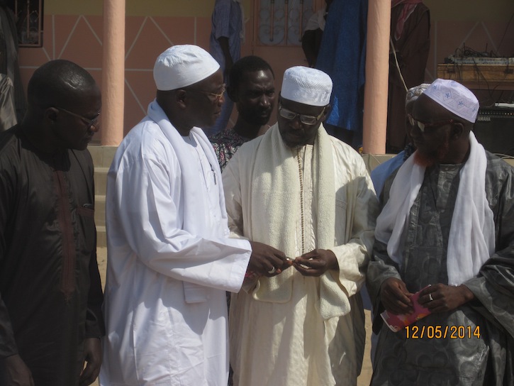
[[123, 139], [125, 92], [125, 0], [104, 1], [101, 144]]

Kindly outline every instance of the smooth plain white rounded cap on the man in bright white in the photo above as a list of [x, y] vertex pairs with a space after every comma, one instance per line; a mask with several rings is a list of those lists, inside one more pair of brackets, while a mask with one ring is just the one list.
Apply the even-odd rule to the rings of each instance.
[[153, 77], [158, 90], [169, 91], [200, 82], [219, 68], [211, 54], [198, 45], [173, 45], [157, 57]]

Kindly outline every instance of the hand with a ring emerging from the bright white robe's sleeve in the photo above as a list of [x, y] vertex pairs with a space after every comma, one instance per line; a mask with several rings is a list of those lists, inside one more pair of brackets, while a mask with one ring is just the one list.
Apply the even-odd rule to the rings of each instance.
[[249, 271], [272, 277], [291, 266], [291, 263], [286, 260], [286, 255], [280, 250], [257, 241], [250, 241], [250, 245], [252, 246], [252, 255], [250, 263], [248, 263]]

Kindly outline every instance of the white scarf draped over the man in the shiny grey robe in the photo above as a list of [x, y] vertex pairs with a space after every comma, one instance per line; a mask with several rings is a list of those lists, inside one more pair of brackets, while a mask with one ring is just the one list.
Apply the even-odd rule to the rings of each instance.
[[[449, 285], [461, 285], [475, 277], [495, 250], [493, 211], [486, 197], [486, 152], [473, 133], [469, 133], [469, 143], [469, 158], [460, 171], [449, 230]], [[415, 164], [414, 158], [408, 158], [398, 170], [391, 185], [389, 201], [376, 219], [376, 240], [387, 244], [387, 253], [400, 268], [410, 208], [425, 178], [425, 167]]]

